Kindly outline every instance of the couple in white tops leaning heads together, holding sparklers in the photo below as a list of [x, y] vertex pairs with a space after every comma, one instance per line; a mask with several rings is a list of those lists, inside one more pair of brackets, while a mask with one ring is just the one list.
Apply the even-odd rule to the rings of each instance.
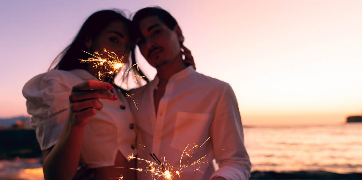
[[[105, 48], [121, 54], [134, 41], [157, 75], [131, 92], [113, 80], [100, 82], [95, 77], [99, 69], [79, 61], [88, 58], [82, 51]], [[43, 151], [46, 180], [86, 179], [88, 172], [97, 180], [116, 179], [119, 174], [125, 180], [153, 179], [150, 172], [136, 174], [115, 167], [147, 168], [148, 164], [129, 161], [127, 156], [152, 159], [150, 153], [165, 156], [177, 167], [186, 145], [190, 144], [188, 151], [209, 137], [192, 151], [193, 158], [184, 155], [182, 163], [206, 155], [203, 161], [210, 167], [204, 163], [184, 168], [181, 179], [248, 179], [251, 163], [235, 94], [229, 84], [195, 71], [183, 41], [176, 20], [157, 7], [139, 10], [132, 21], [114, 10], [96, 12], [85, 21], [72, 44], [56, 58], [54, 69], [35, 76], [23, 88]], [[134, 64], [134, 47], [124, 59], [130, 56], [129, 64]], [[133, 100], [138, 100], [139, 110]], [[217, 171], [212, 159], [219, 164]], [[85, 167], [89, 171], [81, 172]]]

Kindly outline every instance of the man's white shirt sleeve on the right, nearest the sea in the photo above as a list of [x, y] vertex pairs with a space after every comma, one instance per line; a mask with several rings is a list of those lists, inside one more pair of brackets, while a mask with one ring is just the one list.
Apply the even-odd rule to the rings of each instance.
[[235, 93], [229, 84], [223, 90], [210, 126], [215, 160], [219, 169], [211, 177], [247, 180], [251, 162], [244, 146], [243, 126]]

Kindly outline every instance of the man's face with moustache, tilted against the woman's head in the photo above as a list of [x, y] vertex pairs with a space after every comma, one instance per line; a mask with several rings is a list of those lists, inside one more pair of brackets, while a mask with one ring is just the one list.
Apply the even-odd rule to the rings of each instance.
[[171, 30], [157, 16], [150, 16], [140, 21], [139, 28], [143, 37], [136, 42], [151, 66], [159, 68], [180, 56], [179, 39], [182, 34], [181, 30], [176, 30], [179, 30], [178, 26]]

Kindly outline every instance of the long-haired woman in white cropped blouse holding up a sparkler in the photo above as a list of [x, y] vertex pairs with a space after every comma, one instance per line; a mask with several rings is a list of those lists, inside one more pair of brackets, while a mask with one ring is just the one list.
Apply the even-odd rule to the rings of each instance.
[[[134, 171], [114, 168], [135, 167], [126, 157], [137, 154], [133, 117], [124, 91], [114, 88], [113, 80], [100, 82], [95, 77], [99, 69], [79, 60], [89, 58], [82, 51], [107, 49], [122, 55], [130, 45], [130, 23], [115, 10], [92, 14], [73, 42], [56, 57], [55, 67], [25, 84], [23, 95], [43, 151], [46, 180], [72, 179], [81, 156], [94, 170], [94, 179], [119, 174], [135, 179]], [[127, 52], [124, 60], [129, 57]]]

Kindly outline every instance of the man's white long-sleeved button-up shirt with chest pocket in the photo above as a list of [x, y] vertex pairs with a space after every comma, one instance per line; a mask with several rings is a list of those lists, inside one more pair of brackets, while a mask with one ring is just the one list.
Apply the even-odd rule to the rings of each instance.
[[[231, 86], [197, 73], [190, 66], [169, 79], [156, 115], [153, 92], [158, 82], [156, 76], [146, 86], [130, 92], [133, 97], [128, 98], [139, 129], [137, 157], [153, 161], [149, 153], [155, 153], [159, 159], [165, 156], [167, 162], [177, 169], [187, 145], [190, 149], [210, 137], [203, 146], [192, 150], [192, 158], [185, 154], [182, 158], [182, 164], [191, 164], [206, 155], [202, 161], [208, 161], [210, 167], [204, 163], [184, 168], [181, 179], [207, 180], [215, 176], [227, 180], [248, 179], [251, 163], [244, 146], [239, 107]], [[138, 101], [139, 110], [131, 105], [133, 100]], [[215, 172], [212, 167], [214, 158], [219, 164]], [[137, 162], [137, 166], [145, 168], [145, 164]], [[204, 174], [194, 171], [197, 168]], [[151, 179], [150, 172], [138, 173], [138, 180], [146, 179]]]

